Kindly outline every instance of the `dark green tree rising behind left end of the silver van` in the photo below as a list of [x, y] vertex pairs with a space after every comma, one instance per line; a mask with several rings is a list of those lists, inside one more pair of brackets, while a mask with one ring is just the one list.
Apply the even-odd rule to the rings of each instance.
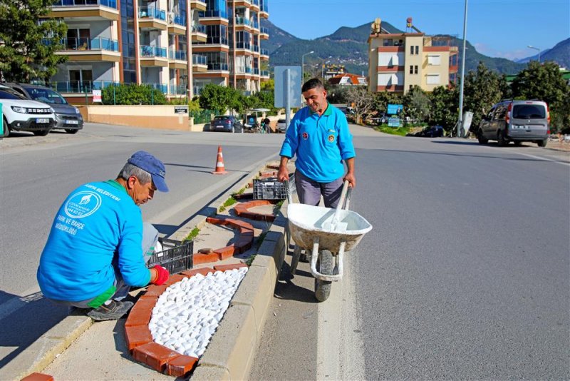
[[[482, 62], [476, 71], [470, 71], [465, 76], [464, 108], [463, 111], [472, 111], [471, 126], [479, 126], [481, 118], [489, 109], [502, 98], [501, 76], [489, 70]], [[475, 131], [476, 128], [472, 128]]]

